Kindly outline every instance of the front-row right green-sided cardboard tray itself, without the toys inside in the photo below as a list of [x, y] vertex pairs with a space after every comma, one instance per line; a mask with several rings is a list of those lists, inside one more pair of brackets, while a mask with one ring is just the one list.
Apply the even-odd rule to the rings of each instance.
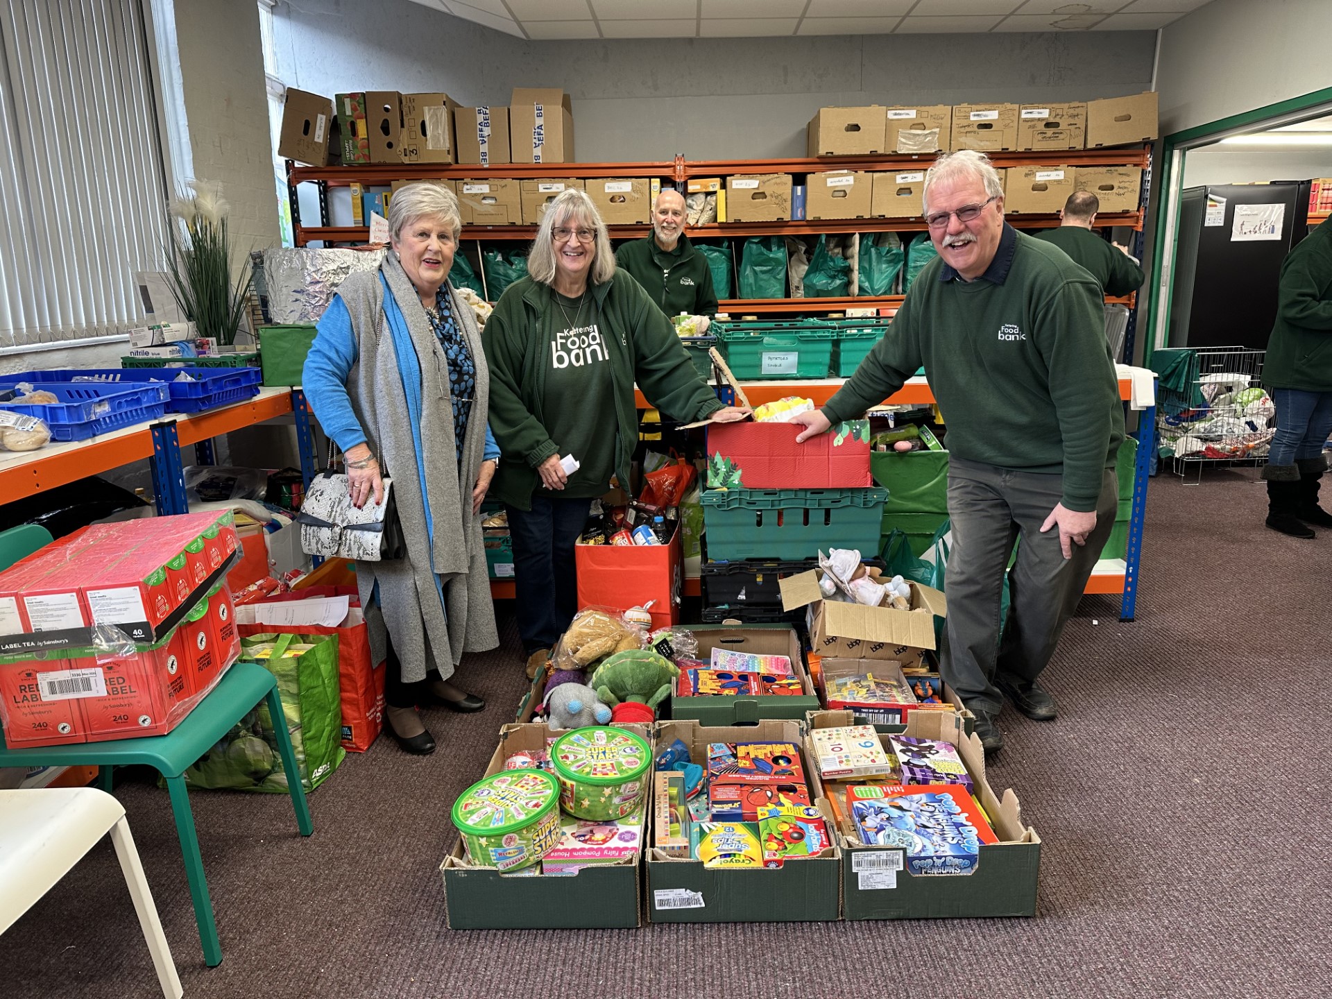
[[[819, 711], [810, 729], [854, 723], [850, 711]], [[838, 831], [842, 850], [842, 896], [846, 919], [928, 919], [1030, 916], [1036, 914], [1040, 836], [1023, 823], [1018, 795], [996, 795], [986, 779], [980, 739], [963, 731], [963, 719], [950, 711], [916, 711], [904, 733], [911, 738], [950, 742], [975, 782], [988, 825], [998, 842], [982, 843], [971, 874], [915, 875], [900, 847], [860, 846]], [[890, 737], [879, 735], [888, 749]], [[806, 753], [809, 757], [809, 753]], [[839, 782], [843, 783], [843, 782]]]

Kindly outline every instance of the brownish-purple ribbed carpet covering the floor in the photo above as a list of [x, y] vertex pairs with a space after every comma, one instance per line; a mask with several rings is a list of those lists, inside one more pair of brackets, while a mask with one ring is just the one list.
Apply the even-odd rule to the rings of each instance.
[[[1252, 469], [1152, 481], [1138, 619], [1083, 601], [1047, 678], [1058, 722], [1003, 715], [990, 767], [1044, 839], [1034, 919], [452, 932], [449, 806], [523, 687], [503, 647], [464, 671], [492, 705], [389, 739], [312, 795], [192, 795], [224, 960], [205, 968], [166, 795], [120, 786], [186, 996], [1327, 996], [1332, 962], [1332, 533], [1263, 527]], [[0, 938], [5, 999], [159, 992], [103, 843]]]

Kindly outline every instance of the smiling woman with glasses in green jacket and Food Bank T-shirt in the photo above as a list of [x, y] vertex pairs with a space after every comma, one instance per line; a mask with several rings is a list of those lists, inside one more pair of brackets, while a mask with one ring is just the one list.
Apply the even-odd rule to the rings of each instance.
[[666, 314], [615, 270], [606, 224], [582, 190], [550, 202], [527, 277], [500, 296], [481, 342], [502, 452], [490, 496], [509, 511], [518, 634], [533, 677], [577, 609], [574, 545], [591, 500], [611, 478], [629, 482], [635, 382], [670, 420], [726, 422], [749, 410], [718, 401]]

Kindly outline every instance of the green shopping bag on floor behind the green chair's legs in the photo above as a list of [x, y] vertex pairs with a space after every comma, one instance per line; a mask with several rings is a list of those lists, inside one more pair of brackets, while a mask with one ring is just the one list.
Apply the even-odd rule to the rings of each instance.
[[[290, 646], [298, 646], [298, 650]], [[294, 653], [294, 654], [289, 654]], [[241, 658], [277, 678], [301, 785], [313, 791], [346, 757], [338, 691], [337, 635], [258, 634], [241, 638]], [[246, 714], [186, 771], [189, 787], [286, 794], [286, 771], [266, 702]]]

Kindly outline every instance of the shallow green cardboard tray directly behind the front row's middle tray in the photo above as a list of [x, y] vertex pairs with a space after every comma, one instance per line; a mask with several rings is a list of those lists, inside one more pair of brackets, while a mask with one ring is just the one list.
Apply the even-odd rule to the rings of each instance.
[[713, 649], [758, 655], [785, 655], [805, 687], [803, 697], [677, 697], [671, 691], [670, 717], [701, 725], [751, 725], [761, 718], [801, 721], [819, 709], [819, 697], [805, 669], [801, 639], [790, 625], [689, 625], [698, 639], [698, 658], [710, 662]]

